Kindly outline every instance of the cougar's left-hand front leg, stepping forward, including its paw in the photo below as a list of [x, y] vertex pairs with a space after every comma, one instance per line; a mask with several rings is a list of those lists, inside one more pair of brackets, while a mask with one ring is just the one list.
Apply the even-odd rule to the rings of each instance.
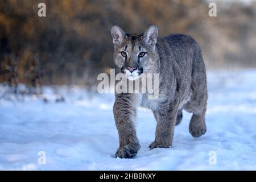
[[134, 158], [139, 148], [134, 119], [139, 98], [135, 94], [117, 94], [114, 104], [114, 118], [119, 135], [119, 148], [115, 153], [119, 158]]

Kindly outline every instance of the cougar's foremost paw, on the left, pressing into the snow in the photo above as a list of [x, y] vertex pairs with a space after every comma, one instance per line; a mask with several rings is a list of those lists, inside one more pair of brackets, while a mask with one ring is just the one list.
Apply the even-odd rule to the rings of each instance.
[[117, 149], [117, 152], [115, 152], [115, 157], [117, 158], [125, 158], [125, 159], [131, 159], [134, 158], [137, 155], [137, 152], [141, 148], [140, 144], [137, 144], [136, 146], [127, 144], [126, 146], [119, 147]]

